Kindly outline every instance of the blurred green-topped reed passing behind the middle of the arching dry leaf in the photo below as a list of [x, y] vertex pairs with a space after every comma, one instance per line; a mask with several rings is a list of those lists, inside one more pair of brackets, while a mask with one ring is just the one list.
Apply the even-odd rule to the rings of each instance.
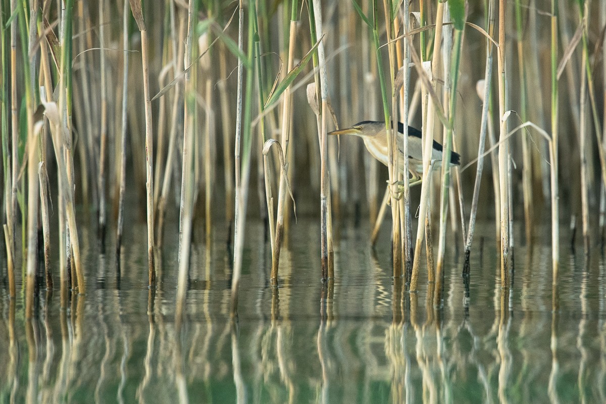
[[[526, 66], [524, 63], [524, 43], [522, 42], [522, 7], [521, 0], [516, 0], [516, 34], [518, 42], [518, 73], [520, 81], [520, 117], [528, 121], [528, 93], [526, 83]], [[528, 136], [522, 136], [522, 192], [524, 194], [524, 222], [527, 245], [532, 245], [533, 231], [533, 190], [532, 190], [532, 156], [528, 145]]]

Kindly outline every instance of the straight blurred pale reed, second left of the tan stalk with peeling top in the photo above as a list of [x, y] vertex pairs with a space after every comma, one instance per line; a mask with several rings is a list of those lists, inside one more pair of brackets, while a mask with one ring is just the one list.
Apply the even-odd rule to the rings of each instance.
[[[105, 162], [107, 156], [107, 84], [105, 76], [105, 0], [99, 0], [99, 73], [101, 74], [101, 122], [99, 122], [99, 178], [97, 182], [99, 193], [99, 237], [102, 244], [105, 239]], [[143, 35], [141, 35], [142, 37]], [[144, 62], [145, 63], [145, 62]]]

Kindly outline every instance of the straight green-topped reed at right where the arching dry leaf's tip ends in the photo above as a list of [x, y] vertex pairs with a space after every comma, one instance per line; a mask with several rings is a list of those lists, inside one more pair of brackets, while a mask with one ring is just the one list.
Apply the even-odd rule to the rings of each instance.
[[551, 0], [551, 262], [552, 282], [558, 284], [559, 268], [559, 191], [558, 191], [558, 0]]

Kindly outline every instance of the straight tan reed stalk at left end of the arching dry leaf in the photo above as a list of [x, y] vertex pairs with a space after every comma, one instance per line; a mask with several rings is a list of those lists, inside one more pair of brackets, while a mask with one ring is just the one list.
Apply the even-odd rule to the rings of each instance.
[[498, 82], [499, 82], [499, 184], [501, 193], [501, 286], [509, 286], [509, 209], [507, 171], [509, 162], [509, 140], [507, 135], [507, 119], [504, 118], [507, 110], [507, 85], [505, 84], [505, 0], [499, 0], [499, 50], [498, 50]]

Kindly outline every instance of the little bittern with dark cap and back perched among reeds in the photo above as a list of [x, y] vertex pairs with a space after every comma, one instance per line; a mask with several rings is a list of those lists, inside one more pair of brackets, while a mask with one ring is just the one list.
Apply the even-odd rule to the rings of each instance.
[[[353, 134], [364, 139], [364, 145], [370, 151], [375, 159], [387, 165], [387, 130], [385, 122], [362, 121], [352, 127], [335, 130], [328, 134]], [[404, 171], [404, 124], [398, 122], [398, 170]], [[421, 143], [421, 131], [411, 126], [408, 127], [408, 171], [412, 175], [410, 185], [421, 183], [423, 173], [423, 145]], [[450, 165], [459, 165], [459, 154], [450, 154]], [[433, 141], [431, 150], [431, 160], [434, 161], [433, 167], [440, 167], [442, 162], [442, 145]]]

